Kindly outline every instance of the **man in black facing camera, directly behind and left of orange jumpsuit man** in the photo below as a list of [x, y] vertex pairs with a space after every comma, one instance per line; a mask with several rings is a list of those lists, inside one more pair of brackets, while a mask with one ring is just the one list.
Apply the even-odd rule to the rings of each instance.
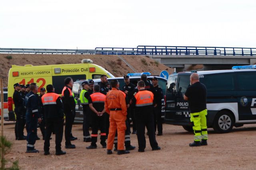
[[[107, 95], [108, 91], [109, 91], [109, 87], [108, 87], [108, 78], [106, 75], [101, 75], [100, 76], [100, 92], [102, 94]], [[106, 114], [106, 138], [108, 139], [108, 131], [109, 131], [109, 114]]]

